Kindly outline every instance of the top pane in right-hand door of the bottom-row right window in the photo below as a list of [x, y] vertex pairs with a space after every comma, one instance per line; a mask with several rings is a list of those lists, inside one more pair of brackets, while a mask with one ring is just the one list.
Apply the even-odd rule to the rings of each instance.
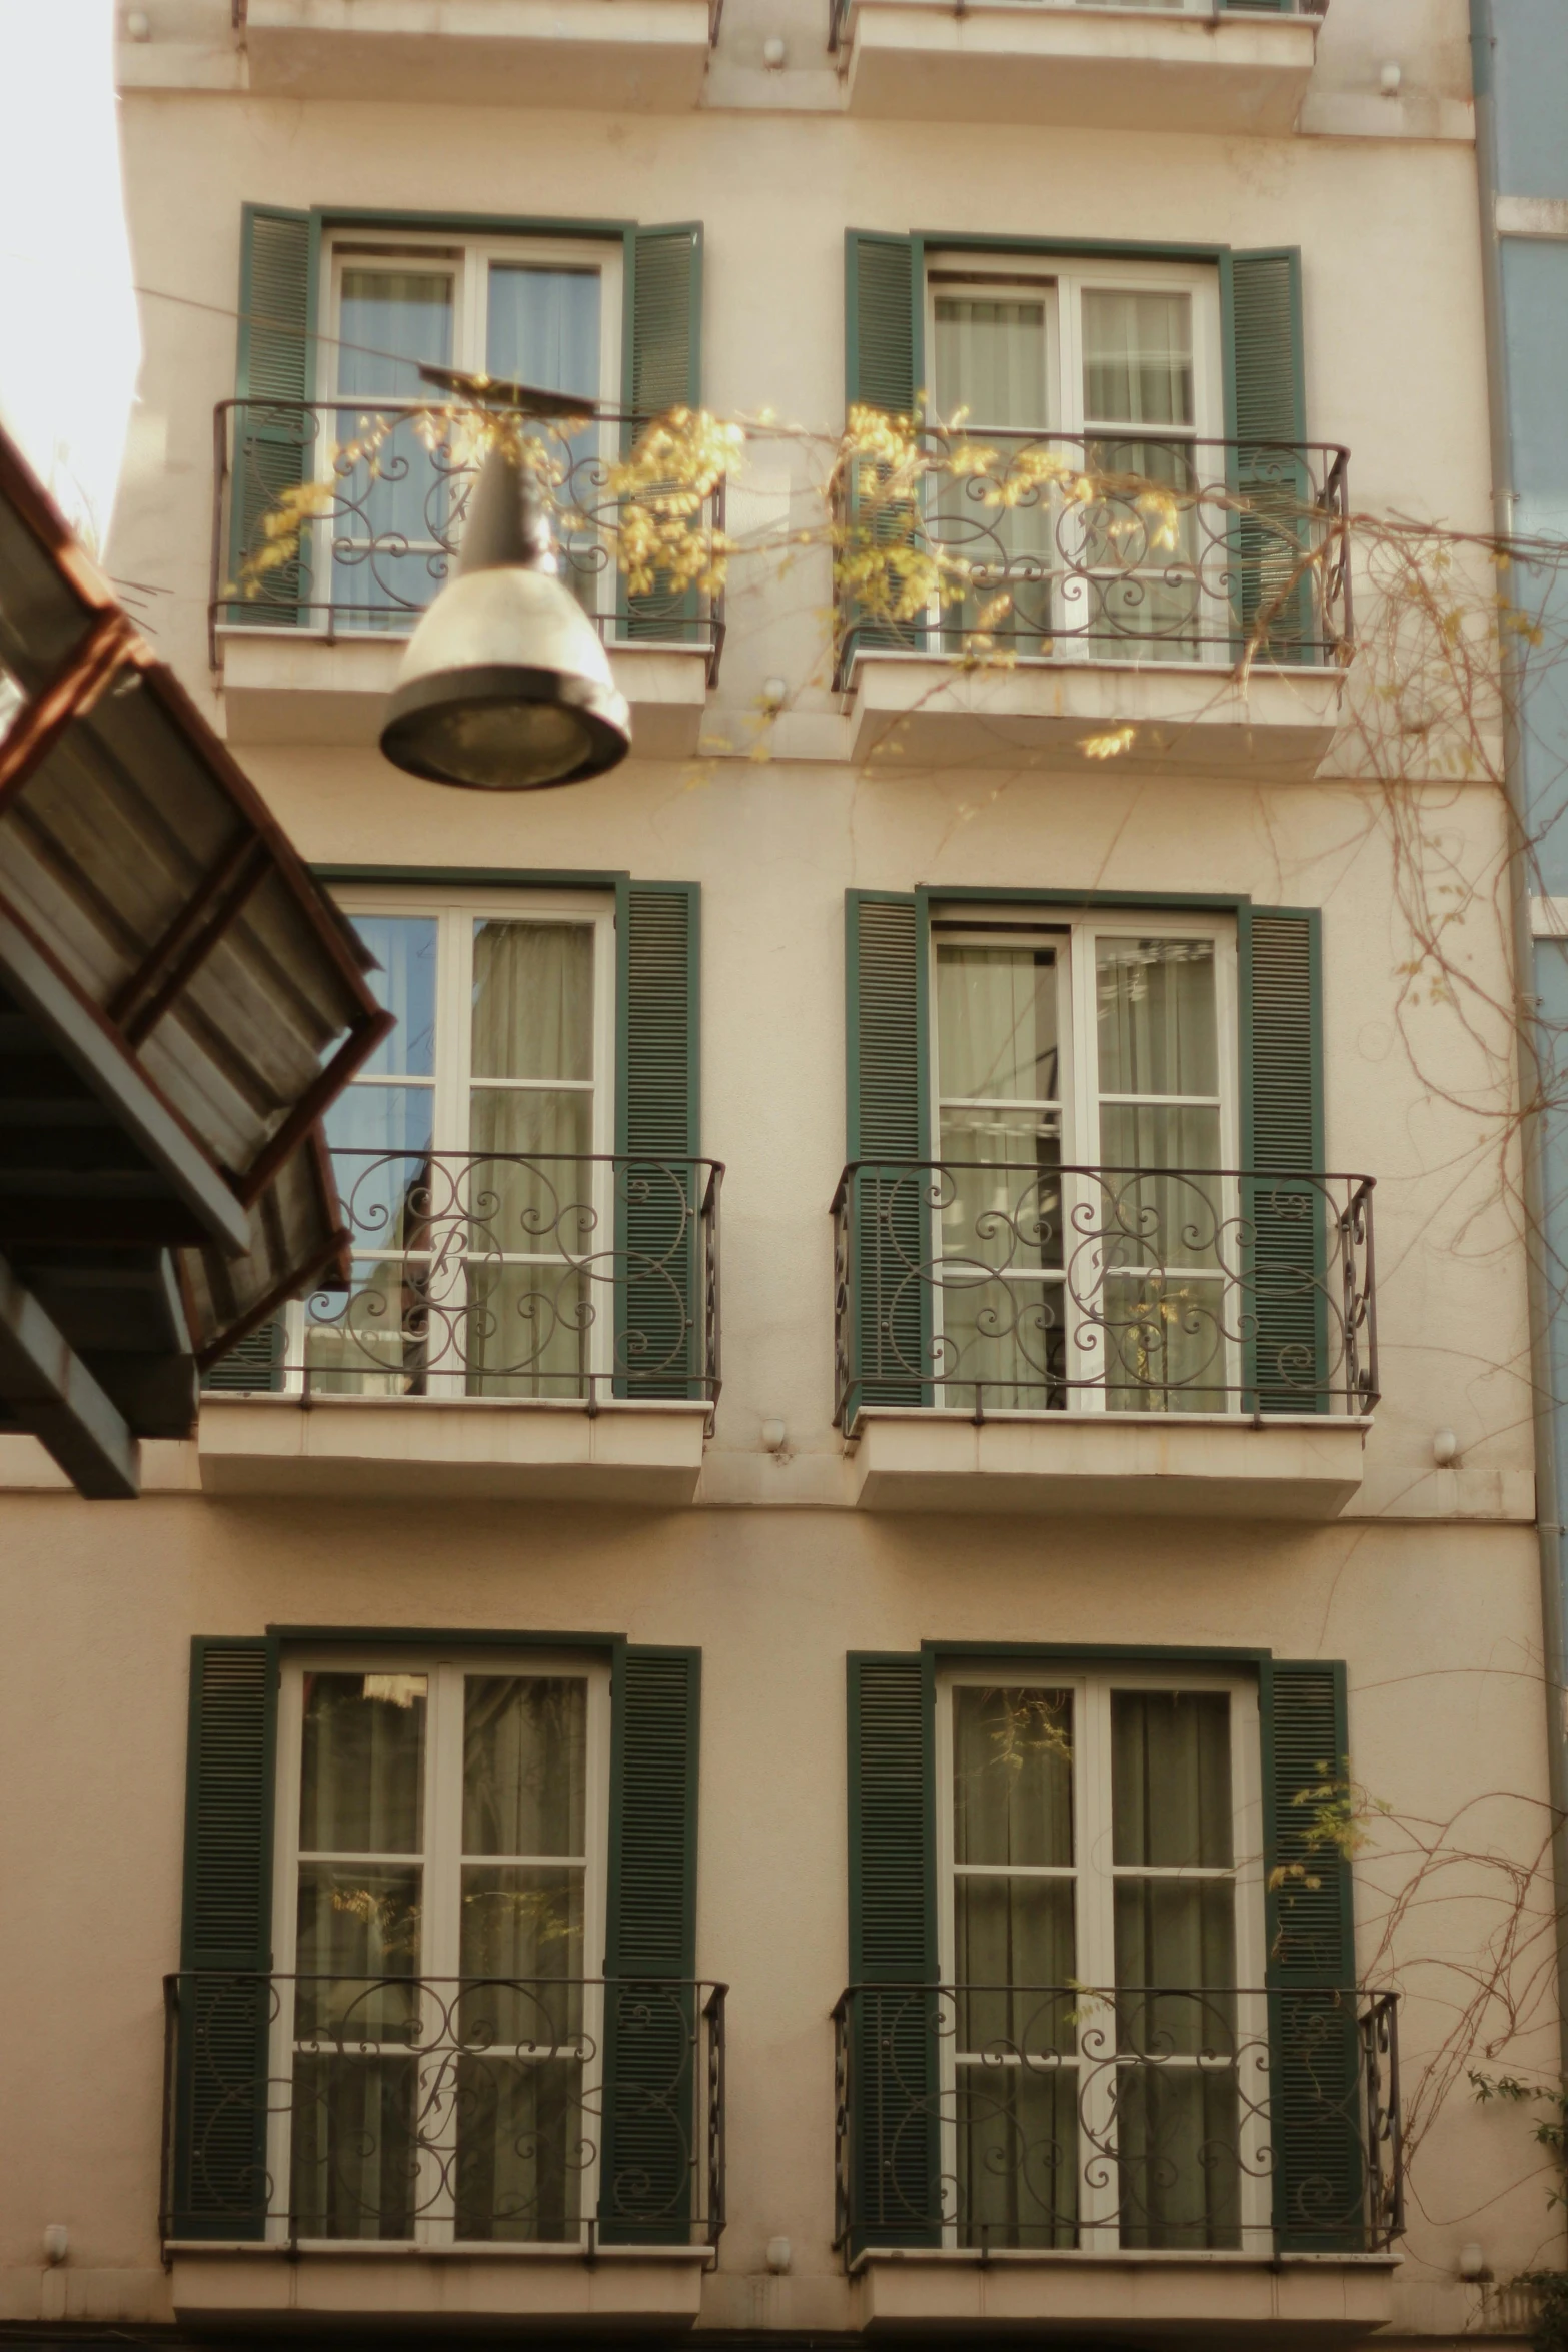
[[1112, 1691], [1112, 1860], [1229, 1870], [1229, 1698]]

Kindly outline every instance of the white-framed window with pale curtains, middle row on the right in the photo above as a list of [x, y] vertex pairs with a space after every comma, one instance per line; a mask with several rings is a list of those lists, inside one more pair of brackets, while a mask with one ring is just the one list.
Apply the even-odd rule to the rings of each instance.
[[936, 1402], [1225, 1411], [1234, 922], [938, 903], [929, 988]]

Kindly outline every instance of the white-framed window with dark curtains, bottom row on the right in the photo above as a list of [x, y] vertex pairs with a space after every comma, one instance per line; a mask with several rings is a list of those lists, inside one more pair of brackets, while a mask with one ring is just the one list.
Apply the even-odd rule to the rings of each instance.
[[947, 2244], [1265, 2244], [1255, 1684], [964, 1668], [936, 1722]]

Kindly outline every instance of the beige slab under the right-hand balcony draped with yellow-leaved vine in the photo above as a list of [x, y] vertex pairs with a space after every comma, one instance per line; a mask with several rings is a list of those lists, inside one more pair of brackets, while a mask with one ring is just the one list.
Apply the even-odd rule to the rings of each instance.
[[1241, 691], [1222, 663], [1020, 661], [957, 670], [924, 654], [863, 654], [851, 689], [851, 757], [867, 767], [1093, 769], [1084, 741], [1135, 727], [1110, 762], [1161, 774], [1314, 776], [1340, 722], [1342, 670], [1255, 670]]

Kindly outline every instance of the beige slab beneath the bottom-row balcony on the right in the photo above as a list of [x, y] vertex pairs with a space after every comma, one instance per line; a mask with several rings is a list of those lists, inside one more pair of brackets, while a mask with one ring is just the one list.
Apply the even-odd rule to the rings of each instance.
[[1107, 2336], [1119, 2345], [1171, 2340], [1349, 2345], [1394, 2310], [1396, 2256], [976, 2256], [865, 2253], [858, 2263], [867, 2331], [980, 2336]]

